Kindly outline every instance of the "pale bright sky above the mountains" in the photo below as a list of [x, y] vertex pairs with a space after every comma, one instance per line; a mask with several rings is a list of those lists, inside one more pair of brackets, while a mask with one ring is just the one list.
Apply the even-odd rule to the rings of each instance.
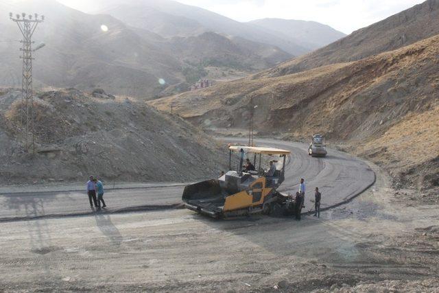
[[[90, 12], [93, 0], [58, 0]], [[123, 1], [123, 0], [121, 0]], [[237, 21], [301, 19], [331, 25], [346, 34], [412, 7], [423, 0], [178, 0]]]

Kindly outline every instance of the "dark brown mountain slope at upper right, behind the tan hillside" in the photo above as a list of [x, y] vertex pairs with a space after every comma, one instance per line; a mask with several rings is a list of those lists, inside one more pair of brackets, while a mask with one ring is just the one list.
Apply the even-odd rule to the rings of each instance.
[[360, 60], [436, 34], [439, 34], [439, 1], [427, 0], [261, 75], [279, 76], [323, 65]]

